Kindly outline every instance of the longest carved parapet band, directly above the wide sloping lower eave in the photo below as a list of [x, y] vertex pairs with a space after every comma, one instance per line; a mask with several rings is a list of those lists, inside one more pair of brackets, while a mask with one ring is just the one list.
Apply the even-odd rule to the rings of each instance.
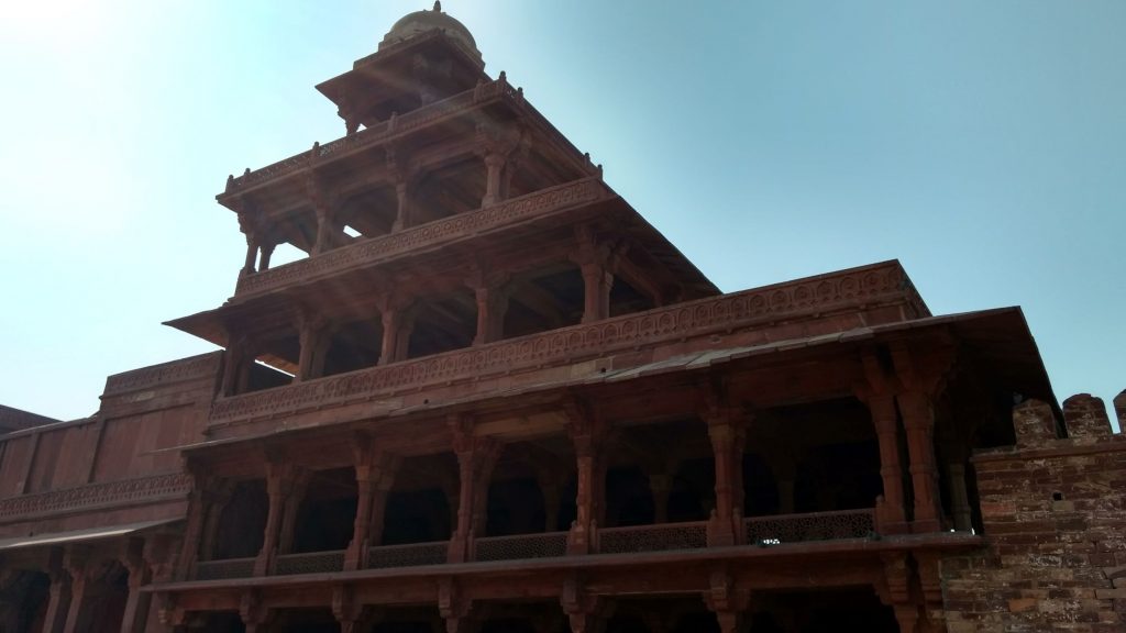
[[910, 303], [915, 296], [897, 262], [879, 264], [224, 398], [212, 404], [211, 422], [338, 405], [436, 383], [509, 374], [641, 345], [793, 320], [860, 302]]

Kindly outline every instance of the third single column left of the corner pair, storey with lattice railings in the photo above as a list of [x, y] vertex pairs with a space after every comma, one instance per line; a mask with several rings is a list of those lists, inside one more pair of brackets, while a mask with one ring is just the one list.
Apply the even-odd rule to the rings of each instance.
[[449, 426], [459, 476], [457, 529], [449, 544], [449, 562], [465, 562], [472, 559], [473, 538], [484, 531], [489, 480], [502, 445], [488, 437], [474, 436], [470, 416], [452, 414]]

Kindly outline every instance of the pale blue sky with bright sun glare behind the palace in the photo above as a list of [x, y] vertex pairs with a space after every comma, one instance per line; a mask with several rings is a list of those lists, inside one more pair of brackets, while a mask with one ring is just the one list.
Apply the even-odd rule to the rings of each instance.
[[[227, 173], [343, 133], [313, 84], [426, 0], [19, 1], [0, 20], [0, 403], [206, 351]], [[447, 0], [495, 75], [724, 291], [899, 258], [1022, 305], [1056, 394], [1126, 386], [1126, 2]]]

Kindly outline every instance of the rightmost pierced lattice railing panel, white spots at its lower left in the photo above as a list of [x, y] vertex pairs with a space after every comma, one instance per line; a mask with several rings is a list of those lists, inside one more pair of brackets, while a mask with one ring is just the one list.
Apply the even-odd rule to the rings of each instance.
[[876, 528], [875, 510], [872, 508], [754, 517], [745, 519], [744, 525], [747, 543], [752, 545], [865, 538]]

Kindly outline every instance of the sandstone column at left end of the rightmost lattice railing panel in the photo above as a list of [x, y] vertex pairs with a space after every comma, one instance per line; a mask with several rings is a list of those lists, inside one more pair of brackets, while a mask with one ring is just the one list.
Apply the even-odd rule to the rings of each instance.
[[742, 541], [744, 413], [735, 407], [711, 405], [704, 412], [715, 456], [715, 509], [708, 521], [708, 545]]

